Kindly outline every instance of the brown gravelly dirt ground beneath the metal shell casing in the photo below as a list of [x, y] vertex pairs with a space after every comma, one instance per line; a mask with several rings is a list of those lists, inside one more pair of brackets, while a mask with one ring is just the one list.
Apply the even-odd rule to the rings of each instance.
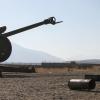
[[83, 74], [3, 73], [0, 100], [100, 100], [100, 83], [92, 91], [68, 88], [68, 80]]

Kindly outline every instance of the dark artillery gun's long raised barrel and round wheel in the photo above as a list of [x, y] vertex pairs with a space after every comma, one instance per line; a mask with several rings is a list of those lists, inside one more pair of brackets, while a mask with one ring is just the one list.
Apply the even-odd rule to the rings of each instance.
[[0, 62], [7, 60], [12, 52], [12, 45], [11, 45], [10, 40], [8, 39], [9, 36], [15, 35], [17, 33], [21, 33], [23, 31], [30, 30], [32, 28], [35, 28], [41, 25], [45, 25], [45, 24], [55, 25], [61, 22], [62, 21], [56, 22], [55, 17], [50, 17], [39, 23], [35, 23], [35, 24], [29, 25], [23, 28], [19, 28], [19, 29], [10, 31], [10, 32], [6, 32], [6, 33], [4, 33], [6, 31], [6, 26], [1, 27], [0, 28]]

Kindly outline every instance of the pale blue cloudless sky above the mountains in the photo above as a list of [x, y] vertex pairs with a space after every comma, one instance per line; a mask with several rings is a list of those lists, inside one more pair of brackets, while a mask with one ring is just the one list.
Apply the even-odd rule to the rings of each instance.
[[55, 16], [64, 22], [9, 37], [25, 48], [65, 60], [100, 58], [100, 0], [0, 0], [7, 31]]

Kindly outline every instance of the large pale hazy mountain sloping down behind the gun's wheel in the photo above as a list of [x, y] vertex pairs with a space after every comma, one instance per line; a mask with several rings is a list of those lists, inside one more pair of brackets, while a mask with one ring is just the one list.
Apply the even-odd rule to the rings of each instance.
[[12, 44], [12, 54], [6, 63], [41, 63], [41, 62], [63, 62], [64, 60], [51, 56], [41, 51], [26, 49]]

